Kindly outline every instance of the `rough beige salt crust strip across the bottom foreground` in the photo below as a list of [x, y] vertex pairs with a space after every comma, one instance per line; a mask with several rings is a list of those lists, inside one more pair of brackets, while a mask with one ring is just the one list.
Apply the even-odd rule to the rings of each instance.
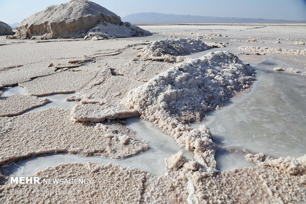
[[[186, 169], [185, 169], [186, 170]], [[0, 187], [0, 202], [18, 203], [27, 199], [40, 202], [108, 203], [301, 203], [305, 199], [306, 156], [259, 162], [224, 172], [185, 171], [184, 168], [154, 177], [135, 168], [114, 164], [72, 163], [60, 164], [39, 171], [40, 178], [92, 178], [93, 184], [78, 185], [21, 185], [7, 184]], [[275, 180], [277, 179], [277, 180]], [[235, 188], [233, 188], [235, 186]], [[55, 190], [80, 189], [79, 194], [46, 197], [39, 193], [6, 193], [16, 189], [20, 192], [31, 188]], [[103, 191], [101, 191], [103, 189]], [[81, 196], [83, 193], [90, 196]]]

